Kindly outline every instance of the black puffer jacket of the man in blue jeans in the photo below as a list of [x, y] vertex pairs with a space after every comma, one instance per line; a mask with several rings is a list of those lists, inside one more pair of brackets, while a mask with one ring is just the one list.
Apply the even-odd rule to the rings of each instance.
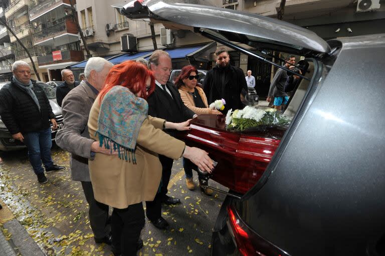
[[31, 80], [40, 111], [32, 97], [14, 82], [0, 90], [0, 116], [11, 134], [37, 132], [50, 127], [55, 118], [50, 102], [43, 88]]

